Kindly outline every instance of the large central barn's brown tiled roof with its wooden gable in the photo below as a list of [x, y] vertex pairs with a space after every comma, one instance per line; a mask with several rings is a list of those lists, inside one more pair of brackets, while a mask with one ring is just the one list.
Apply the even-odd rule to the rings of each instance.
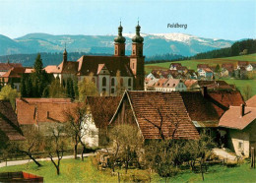
[[109, 123], [136, 126], [145, 141], [198, 139], [179, 92], [125, 91]]

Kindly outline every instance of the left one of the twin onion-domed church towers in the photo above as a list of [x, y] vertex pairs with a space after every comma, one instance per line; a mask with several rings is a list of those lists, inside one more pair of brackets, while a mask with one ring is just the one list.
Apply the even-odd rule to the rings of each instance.
[[125, 37], [122, 35], [123, 27], [120, 22], [118, 36], [114, 38], [114, 56], [125, 56]]

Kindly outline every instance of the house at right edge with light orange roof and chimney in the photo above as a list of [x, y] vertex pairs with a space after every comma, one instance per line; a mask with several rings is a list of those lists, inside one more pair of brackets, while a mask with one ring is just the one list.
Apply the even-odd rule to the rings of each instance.
[[237, 155], [248, 157], [256, 149], [256, 95], [246, 101], [246, 106], [230, 106], [222, 116], [219, 127], [224, 129], [227, 148]]

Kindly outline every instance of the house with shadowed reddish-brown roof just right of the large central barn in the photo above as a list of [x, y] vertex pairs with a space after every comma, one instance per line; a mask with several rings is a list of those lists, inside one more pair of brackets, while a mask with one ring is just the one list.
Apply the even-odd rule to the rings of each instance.
[[[218, 124], [230, 105], [239, 106], [244, 100], [239, 91], [202, 91], [180, 92], [188, 115], [201, 133], [207, 132], [219, 143]], [[221, 142], [222, 143], [222, 142]]]

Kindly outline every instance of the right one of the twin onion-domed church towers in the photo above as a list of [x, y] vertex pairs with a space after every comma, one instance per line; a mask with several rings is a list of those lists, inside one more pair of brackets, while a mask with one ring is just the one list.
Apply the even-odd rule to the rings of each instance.
[[134, 75], [134, 90], [144, 91], [144, 60], [143, 56], [143, 41], [144, 38], [140, 35], [141, 27], [136, 27], [136, 35], [132, 38], [132, 55], [130, 57], [130, 68]]

